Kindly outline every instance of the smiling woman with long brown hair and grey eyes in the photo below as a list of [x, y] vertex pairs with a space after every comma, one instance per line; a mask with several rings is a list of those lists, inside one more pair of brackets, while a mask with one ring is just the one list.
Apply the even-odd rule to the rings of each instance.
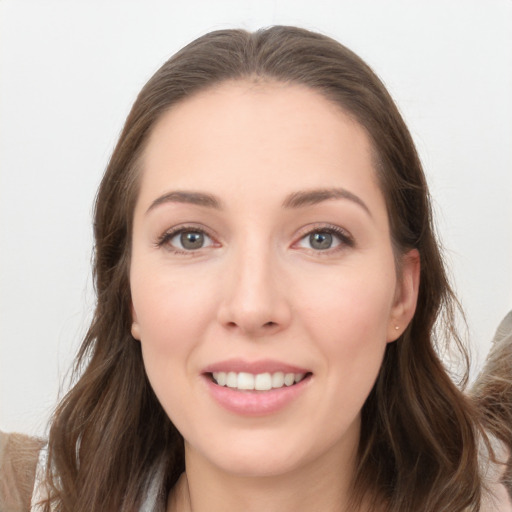
[[479, 510], [425, 178], [352, 52], [291, 27], [185, 47], [139, 94], [94, 229], [41, 510]]

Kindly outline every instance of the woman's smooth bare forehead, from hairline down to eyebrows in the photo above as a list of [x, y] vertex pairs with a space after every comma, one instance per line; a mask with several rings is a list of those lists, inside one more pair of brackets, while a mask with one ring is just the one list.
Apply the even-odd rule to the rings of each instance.
[[202, 91], [155, 125], [142, 159], [141, 199], [198, 186], [266, 196], [378, 188], [372, 147], [357, 121], [310, 88], [268, 81]]

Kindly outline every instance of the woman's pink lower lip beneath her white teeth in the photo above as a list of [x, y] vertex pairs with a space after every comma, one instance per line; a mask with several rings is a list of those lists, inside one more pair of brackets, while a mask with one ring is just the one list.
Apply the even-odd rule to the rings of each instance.
[[311, 380], [308, 375], [293, 386], [268, 391], [240, 391], [219, 386], [209, 375], [204, 377], [214, 400], [228, 411], [243, 416], [264, 416], [284, 409], [304, 392]]

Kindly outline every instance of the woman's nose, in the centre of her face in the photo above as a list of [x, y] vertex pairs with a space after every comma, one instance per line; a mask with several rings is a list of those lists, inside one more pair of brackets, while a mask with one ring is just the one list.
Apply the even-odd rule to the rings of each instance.
[[218, 309], [218, 320], [225, 328], [261, 338], [288, 327], [291, 308], [278, 267], [269, 250], [234, 255]]

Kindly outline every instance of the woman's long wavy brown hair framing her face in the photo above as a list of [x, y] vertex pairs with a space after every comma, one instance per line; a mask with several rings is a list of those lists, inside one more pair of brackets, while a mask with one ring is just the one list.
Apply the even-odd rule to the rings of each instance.
[[[47, 484], [56, 510], [134, 511], [164, 457], [164, 492], [184, 470], [183, 439], [153, 394], [130, 334], [130, 244], [141, 155], [173, 105], [227, 80], [305, 85], [352, 115], [373, 144], [397, 255], [417, 248], [416, 314], [388, 344], [362, 411], [354, 504], [363, 497], [396, 512], [477, 511], [477, 434], [468, 400], [447, 375], [436, 344], [455, 341], [456, 301], [432, 226], [412, 138], [381, 81], [354, 53], [293, 27], [209, 33], [167, 61], [140, 92], [101, 182], [95, 208], [97, 306], [81, 346], [76, 384], [49, 437]], [[434, 326], [443, 317], [446, 322]]]

